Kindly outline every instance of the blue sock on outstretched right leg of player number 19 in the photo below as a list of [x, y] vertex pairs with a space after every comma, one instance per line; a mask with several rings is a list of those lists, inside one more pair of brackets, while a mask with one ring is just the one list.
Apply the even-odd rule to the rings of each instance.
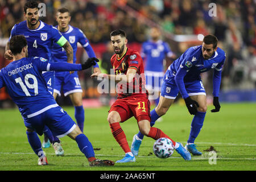
[[80, 151], [86, 156], [86, 158], [94, 157], [93, 146], [84, 134], [77, 135], [76, 143], [79, 146]]

